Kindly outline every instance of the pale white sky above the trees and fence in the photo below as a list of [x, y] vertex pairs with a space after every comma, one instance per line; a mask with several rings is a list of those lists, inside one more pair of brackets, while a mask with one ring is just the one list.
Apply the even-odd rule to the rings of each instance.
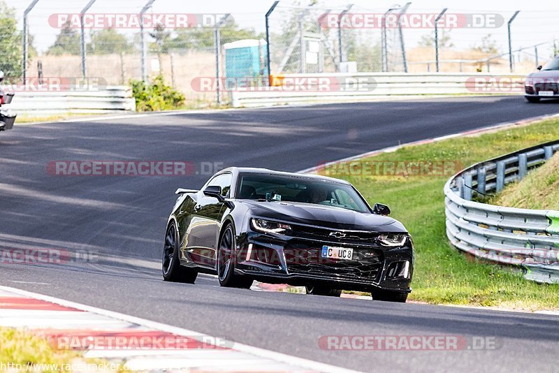
[[[17, 17], [22, 28], [22, 15], [31, 0], [5, 0], [8, 6], [16, 9]], [[35, 47], [41, 52], [55, 41], [59, 29], [48, 23], [50, 15], [55, 13], [80, 13], [88, 0], [39, 0], [35, 8], [29, 13], [29, 32], [34, 35]], [[147, 0], [96, 0], [89, 13], [138, 13]], [[263, 31], [264, 15], [273, 1], [247, 0], [156, 0], [152, 7], [154, 13], [232, 13], [235, 21], [241, 27]], [[273, 17], [281, 17], [283, 10], [295, 6], [297, 3], [307, 4], [307, 1], [282, 0]], [[354, 13], [384, 13], [386, 9], [395, 5], [395, 1], [383, 0], [319, 0], [314, 8], [343, 9], [348, 3], [353, 3]], [[405, 3], [401, 1], [400, 5]], [[489, 0], [415, 0], [409, 6], [408, 13], [438, 13], [442, 8], [449, 8], [449, 13], [498, 13], [505, 20], [521, 10], [512, 24], [512, 46], [528, 47], [537, 43], [552, 41], [559, 38], [559, 1], [489, 1]], [[277, 20], [277, 18], [275, 19]], [[407, 29], [404, 31], [405, 43], [408, 47], [417, 45], [422, 35], [430, 33], [430, 29]], [[502, 51], [507, 49], [507, 25], [497, 29], [454, 29], [451, 40], [457, 48], [467, 49], [477, 45], [481, 38], [492, 34]], [[558, 42], [559, 43], [559, 42]], [[532, 48], [533, 49], [533, 48]], [[533, 53], [533, 52], [530, 52]], [[540, 52], [542, 53], [542, 52]]]

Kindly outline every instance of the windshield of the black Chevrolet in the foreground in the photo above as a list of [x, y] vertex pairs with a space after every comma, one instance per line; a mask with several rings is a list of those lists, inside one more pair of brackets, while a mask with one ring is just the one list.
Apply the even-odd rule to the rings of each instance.
[[363, 198], [347, 184], [310, 177], [263, 174], [241, 174], [239, 180], [239, 199], [283, 200], [370, 212]]

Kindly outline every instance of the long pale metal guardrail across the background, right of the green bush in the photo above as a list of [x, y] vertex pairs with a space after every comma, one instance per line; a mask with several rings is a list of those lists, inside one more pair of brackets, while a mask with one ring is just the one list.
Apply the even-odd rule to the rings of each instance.
[[289, 87], [231, 90], [235, 108], [366, 101], [382, 96], [523, 94], [522, 75], [488, 73], [285, 74]]

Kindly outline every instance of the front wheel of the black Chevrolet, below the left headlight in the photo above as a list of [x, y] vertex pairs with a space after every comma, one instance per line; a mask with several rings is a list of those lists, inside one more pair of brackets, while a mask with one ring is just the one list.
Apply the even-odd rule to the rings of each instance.
[[254, 281], [250, 277], [235, 274], [235, 235], [228, 224], [217, 246], [217, 277], [219, 285], [227, 288], [250, 288]]

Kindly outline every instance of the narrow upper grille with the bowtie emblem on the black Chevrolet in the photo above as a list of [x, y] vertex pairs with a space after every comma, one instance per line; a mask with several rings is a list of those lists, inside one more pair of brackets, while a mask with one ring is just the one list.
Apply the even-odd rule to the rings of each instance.
[[379, 233], [364, 231], [338, 231], [328, 228], [291, 225], [293, 237], [327, 242], [375, 243]]

